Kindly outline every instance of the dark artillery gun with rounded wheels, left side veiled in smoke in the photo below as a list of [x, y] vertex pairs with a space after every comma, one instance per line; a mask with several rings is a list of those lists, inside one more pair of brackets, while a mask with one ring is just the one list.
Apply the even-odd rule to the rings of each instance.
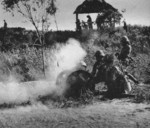
[[67, 70], [58, 75], [56, 85], [65, 84], [63, 96], [78, 98], [87, 90], [94, 92], [95, 84], [92, 78], [92, 75], [86, 70]]

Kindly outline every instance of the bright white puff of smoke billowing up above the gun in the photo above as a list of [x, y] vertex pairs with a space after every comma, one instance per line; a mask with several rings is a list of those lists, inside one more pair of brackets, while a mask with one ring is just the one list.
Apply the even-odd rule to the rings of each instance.
[[78, 41], [69, 39], [65, 45], [61, 46], [60, 50], [54, 52], [54, 56], [53, 60], [49, 60], [49, 74], [52, 75], [51, 78], [57, 77], [62, 71], [77, 68], [86, 56], [86, 52]]

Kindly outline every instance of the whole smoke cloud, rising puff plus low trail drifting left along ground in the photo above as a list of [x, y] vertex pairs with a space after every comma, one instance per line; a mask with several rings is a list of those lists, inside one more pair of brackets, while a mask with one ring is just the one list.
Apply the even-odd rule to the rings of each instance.
[[58, 86], [58, 76], [63, 71], [74, 71], [85, 55], [86, 52], [80, 43], [74, 39], [69, 39], [65, 45], [57, 44], [46, 58], [48, 62], [46, 79], [18, 83], [15, 77], [11, 76], [9, 81], [0, 83], [0, 104], [36, 101], [39, 96], [54, 93], [61, 95], [66, 84], [62, 81], [61, 86]]

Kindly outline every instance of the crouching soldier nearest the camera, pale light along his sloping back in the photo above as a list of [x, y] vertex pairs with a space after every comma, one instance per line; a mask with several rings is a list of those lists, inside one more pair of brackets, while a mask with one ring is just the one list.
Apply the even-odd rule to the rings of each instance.
[[131, 91], [131, 85], [120, 68], [114, 65], [114, 55], [106, 55], [104, 61], [106, 66], [105, 84], [108, 95], [113, 97], [123, 93], [128, 94]]

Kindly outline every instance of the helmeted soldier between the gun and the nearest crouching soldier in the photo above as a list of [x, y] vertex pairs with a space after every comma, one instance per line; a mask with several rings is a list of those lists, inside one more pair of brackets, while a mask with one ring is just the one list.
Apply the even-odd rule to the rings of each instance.
[[92, 76], [94, 77], [94, 82], [99, 83], [103, 81], [103, 69], [104, 69], [104, 57], [105, 54], [102, 50], [96, 51], [95, 55], [96, 62], [93, 66]]

